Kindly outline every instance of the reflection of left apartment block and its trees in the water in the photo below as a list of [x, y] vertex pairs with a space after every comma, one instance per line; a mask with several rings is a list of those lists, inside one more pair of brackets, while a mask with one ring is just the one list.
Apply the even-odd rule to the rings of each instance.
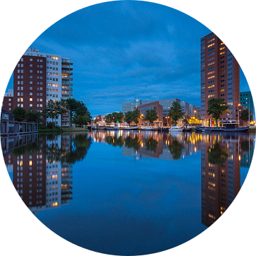
[[43, 138], [36, 134], [33, 140], [28, 139], [30, 136], [2, 138], [1, 146], [5, 147], [4, 163], [7, 170], [12, 170], [14, 188], [35, 214], [73, 199], [72, 164], [85, 158], [92, 142], [87, 134]]

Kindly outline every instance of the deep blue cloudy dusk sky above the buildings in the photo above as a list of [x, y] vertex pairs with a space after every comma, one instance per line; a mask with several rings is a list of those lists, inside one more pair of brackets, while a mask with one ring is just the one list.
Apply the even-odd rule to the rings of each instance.
[[[178, 98], [200, 106], [200, 39], [210, 32], [169, 6], [118, 0], [74, 11], [28, 48], [73, 61], [73, 97], [96, 117], [122, 111], [122, 102], [134, 97]], [[13, 84], [11, 75], [6, 91]], [[240, 91], [248, 90], [240, 68]]]

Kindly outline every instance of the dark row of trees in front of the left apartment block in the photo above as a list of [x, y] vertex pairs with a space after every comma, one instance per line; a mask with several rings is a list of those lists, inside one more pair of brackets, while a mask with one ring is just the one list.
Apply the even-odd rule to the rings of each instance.
[[23, 107], [16, 107], [11, 111], [14, 114], [14, 119], [18, 122], [22, 122], [26, 119], [27, 122], [36, 122], [41, 124], [43, 118], [50, 118], [52, 122], [50, 125], [55, 128], [55, 121], [59, 116], [69, 112], [70, 113], [70, 127], [72, 124], [86, 125], [88, 122], [92, 122], [92, 115], [87, 109], [85, 103], [80, 100], [68, 98], [68, 100], [49, 100], [46, 108], [43, 112], [34, 110], [32, 107], [27, 111]]

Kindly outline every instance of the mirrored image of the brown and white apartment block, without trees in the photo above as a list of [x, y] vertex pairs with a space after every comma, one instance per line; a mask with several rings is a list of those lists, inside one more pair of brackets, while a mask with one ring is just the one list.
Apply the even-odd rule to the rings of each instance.
[[70, 144], [65, 136], [44, 137], [6, 154], [6, 169], [12, 170], [13, 185], [31, 213], [59, 208], [72, 200], [72, 166], [48, 159], [46, 147], [64, 149]]

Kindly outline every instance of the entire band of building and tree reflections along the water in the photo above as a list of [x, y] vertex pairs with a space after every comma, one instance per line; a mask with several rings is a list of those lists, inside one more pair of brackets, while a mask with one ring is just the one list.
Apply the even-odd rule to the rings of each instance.
[[[135, 160], [178, 161], [201, 151], [201, 222], [208, 227], [238, 196], [240, 166], [250, 167], [254, 145], [248, 134], [194, 132], [97, 131], [24, 138], [5, 138], [9, 141], [1, 145], [6, 169], [12, 171], [14, 188], [33, 214], [70, 203], [73, 163], [85, 157], [92, 142], [120, 147], [122, 156]], [[28, 144], [17, 147], [25, 142]]]

